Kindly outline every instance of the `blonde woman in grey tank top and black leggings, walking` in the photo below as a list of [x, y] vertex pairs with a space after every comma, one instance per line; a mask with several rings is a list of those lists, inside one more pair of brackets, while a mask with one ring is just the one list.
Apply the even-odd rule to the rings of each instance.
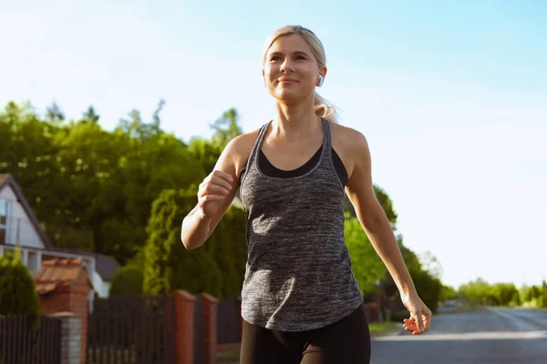
[[182, 223], [188, 249], [209, 238], [240, 188], [248, 260], [242, 289], [242, 363], [368, 363], [370, 335], [344, 242], [344, 194], [410, 311], [405, 329], [429, 329], [371, 178], [366, 138], [335, 123], [315, 93], [325, 50], [301, 26], [278, 29], [263, 55], [276, 116], [237, 136], [204, 179]]

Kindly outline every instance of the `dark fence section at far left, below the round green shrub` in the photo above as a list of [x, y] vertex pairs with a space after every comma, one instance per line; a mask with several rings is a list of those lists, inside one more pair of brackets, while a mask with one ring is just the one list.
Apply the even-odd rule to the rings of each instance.
[[0, 317], [0, 364], [60, 362], [60, 319], [40, 317], [33, 327], [26, 317]]

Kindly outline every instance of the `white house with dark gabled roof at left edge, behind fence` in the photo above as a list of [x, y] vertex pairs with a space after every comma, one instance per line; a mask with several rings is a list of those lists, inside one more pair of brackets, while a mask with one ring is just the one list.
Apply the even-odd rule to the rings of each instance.
[[83, 259], [93, 290], [102, 298], [108, 297], [110, 278], [119, 268], [116, 259], [109, 256], [55, 248], [15, 178], [0, 174], [0, 255], [14, 251], [15, 246], [21, 247], [21, 260], [33, 276], [42, 267], [42, 260]]

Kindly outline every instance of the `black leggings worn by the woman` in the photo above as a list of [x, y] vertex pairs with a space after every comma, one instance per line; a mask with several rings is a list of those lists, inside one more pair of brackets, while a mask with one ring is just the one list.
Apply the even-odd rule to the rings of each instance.
[[243, 320], [241, 364], [368, 364], [370, 332], [361, 305], [325, 328], [284, 332]]

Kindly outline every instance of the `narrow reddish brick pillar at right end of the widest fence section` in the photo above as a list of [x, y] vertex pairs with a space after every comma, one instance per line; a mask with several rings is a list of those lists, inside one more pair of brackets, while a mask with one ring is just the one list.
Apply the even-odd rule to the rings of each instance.
[[175, 298], [175, 351], [177, 364], [193, 364], [193, 312], [196, 298], [185, 290], [171, 293]]

